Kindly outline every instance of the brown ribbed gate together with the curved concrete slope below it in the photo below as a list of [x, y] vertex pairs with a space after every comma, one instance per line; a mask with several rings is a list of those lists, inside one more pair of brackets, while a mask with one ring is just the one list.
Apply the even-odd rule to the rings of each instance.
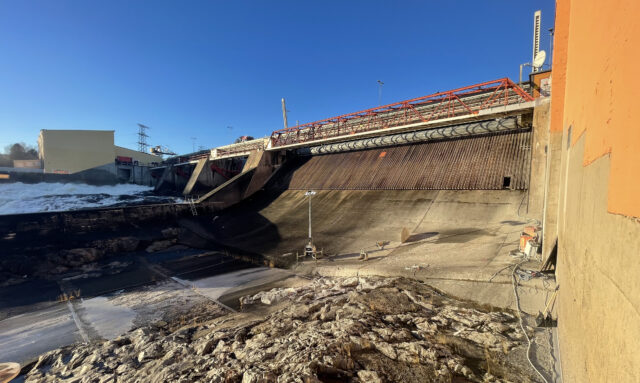
[[262, 190], [222, 214], [211, 232], [221, 242], [271, 256], [300, 250], [307, 190], [318, 193], [314, 241], [329, 253], [399, 242], [403, 228], [437, 237], [455, 228], [462, 235], [524, 221], [530, 137], [528, 130], [294, 157]]

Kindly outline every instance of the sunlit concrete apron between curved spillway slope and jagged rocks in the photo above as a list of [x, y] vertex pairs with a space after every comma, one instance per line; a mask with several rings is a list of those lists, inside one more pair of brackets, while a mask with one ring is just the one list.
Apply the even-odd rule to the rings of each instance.
[[[517, 310], [512, 272], [522, 260], [509, 252], [517, 247], [520, 231], [520, 227], [505, 224], [473, 234], [472, 239], [459, 238], [464, 244], [446, 243], [436, 234], [413, 243], [391, 242], [384, 250], [368, 248], [368, 261], [359, 260], [359, 253], [335, 254], [302, 261], [292, 269], [308, 275], [414, 278], [458, 299]], [[540, 267], [538, 260], [519, 266], [521, 270]], [[544, 311], [555, 287], [553, 278], [519, 280], [521, 310], [531, 315]], [[555, 317], [555, 305], [552, 308]]]

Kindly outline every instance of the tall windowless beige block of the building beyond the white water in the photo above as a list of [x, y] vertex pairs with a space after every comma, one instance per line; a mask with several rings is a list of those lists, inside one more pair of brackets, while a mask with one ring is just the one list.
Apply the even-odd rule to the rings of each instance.
[[72, 174], [114, 161], [113, 130], [41, 130], [45, 173]]

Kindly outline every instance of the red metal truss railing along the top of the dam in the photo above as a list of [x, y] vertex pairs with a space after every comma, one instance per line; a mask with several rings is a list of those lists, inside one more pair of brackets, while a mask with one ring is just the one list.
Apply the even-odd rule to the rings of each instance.
[[482, 109], [527, 101], [533, 101], [533, 97], [513, 81], [502, 78], [276, 130], [271, 133], [271, 146], [285, 146], [474, 115]]

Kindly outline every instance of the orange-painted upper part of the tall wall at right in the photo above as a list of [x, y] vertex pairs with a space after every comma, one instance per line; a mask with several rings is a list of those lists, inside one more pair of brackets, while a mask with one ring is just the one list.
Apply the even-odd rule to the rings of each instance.
[[573, 126], [572, 145], [585, 134], [585, 166], [611, 153], [608, 211], [640, 217], [640, 1], [559, 0], [557, 12], [551, 129]]

